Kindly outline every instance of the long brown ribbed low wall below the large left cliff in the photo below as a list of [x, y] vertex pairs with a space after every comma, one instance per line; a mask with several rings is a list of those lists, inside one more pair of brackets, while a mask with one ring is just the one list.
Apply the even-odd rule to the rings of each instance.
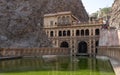
[[2, 48], [0, 55], [9, 56], [42, 56], [42, 55], [70, 55], [69, 48]]

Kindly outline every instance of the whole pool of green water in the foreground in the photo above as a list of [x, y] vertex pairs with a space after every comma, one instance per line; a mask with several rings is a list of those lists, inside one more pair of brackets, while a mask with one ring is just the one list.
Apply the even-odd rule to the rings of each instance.
[[0, 75], [115, 75], [109, 60], [83, 57], [0, 60]]

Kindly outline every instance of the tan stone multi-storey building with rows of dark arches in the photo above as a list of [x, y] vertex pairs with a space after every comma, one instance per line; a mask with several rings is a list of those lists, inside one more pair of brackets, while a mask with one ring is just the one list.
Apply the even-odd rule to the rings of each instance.
[[44, 31], [56, 48], [72, 54], [96, 54], [102, 22], [82, 23], [70, 11], [44, 15]]

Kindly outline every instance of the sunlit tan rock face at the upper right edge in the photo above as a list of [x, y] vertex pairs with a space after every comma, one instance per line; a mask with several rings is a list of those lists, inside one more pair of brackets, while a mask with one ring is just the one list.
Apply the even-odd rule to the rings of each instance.
[[120, 28], [120, 0], [115, 0], [112, 6], [110, 26]]

